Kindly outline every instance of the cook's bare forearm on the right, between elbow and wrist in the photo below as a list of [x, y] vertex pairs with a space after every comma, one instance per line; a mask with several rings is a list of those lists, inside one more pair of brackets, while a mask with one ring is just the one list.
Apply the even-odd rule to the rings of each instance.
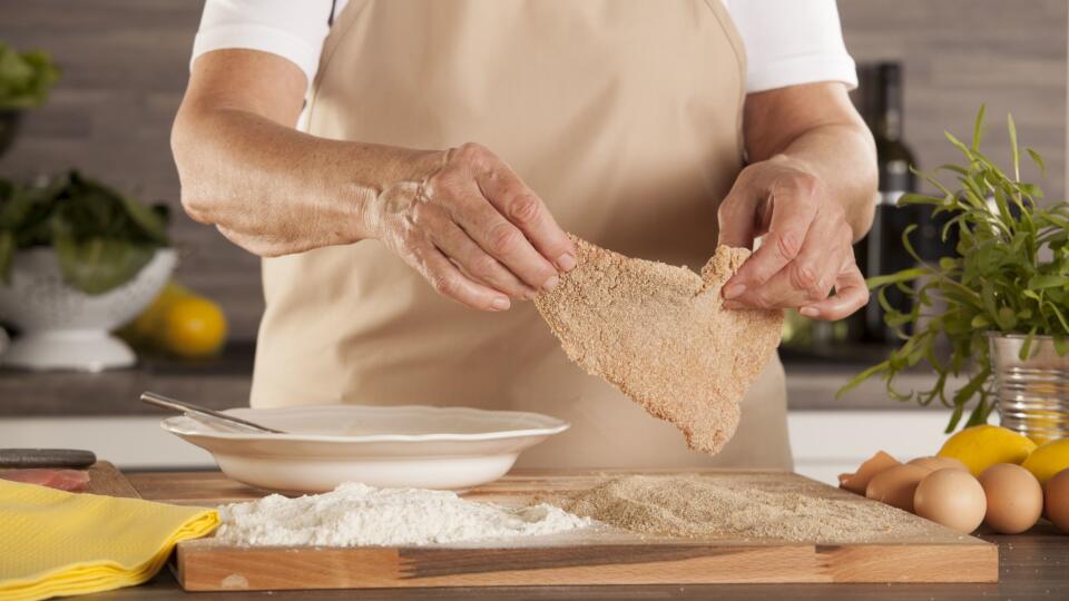
[[843, 206], [855, 240], [869, 231], [877, 174], [872, 136], [863, 125], [813, 127], [792, 140], [781, 154], [804, 165], [824, 184], [827, 195]]

